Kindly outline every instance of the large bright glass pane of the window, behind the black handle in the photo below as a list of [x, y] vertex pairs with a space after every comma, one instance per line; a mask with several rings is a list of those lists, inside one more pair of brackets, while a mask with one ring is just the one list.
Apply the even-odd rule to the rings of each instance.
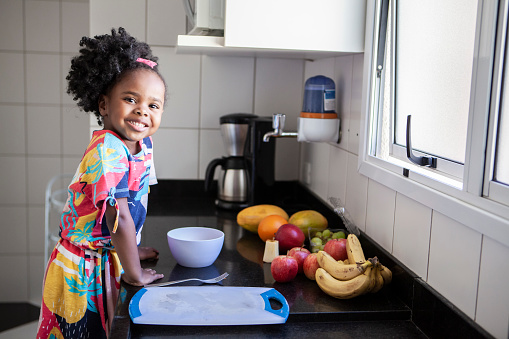
[[464, 163], [477, 1], [398, 1], [395, 142]]

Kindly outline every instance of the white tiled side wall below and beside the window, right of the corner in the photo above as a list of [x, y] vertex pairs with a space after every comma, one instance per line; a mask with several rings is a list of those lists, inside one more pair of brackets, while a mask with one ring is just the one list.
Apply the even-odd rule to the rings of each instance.
[[313, 192], [339, 197], [377, 243], [493, 336], [507, 338], [509, 248], [358, 173], [362, 68], [362, 55], [306, 63], [306, 78], [321, 73], [336, 82], [343, 140], [303, 144], [301, 182], [309, 163]]

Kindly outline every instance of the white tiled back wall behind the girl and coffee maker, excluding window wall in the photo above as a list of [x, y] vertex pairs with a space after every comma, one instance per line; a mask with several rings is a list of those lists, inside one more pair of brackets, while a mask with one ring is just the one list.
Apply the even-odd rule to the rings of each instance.
[[[89, 20], [92, 17], [93, 20]], [[122, 26], [160, 58], [169, 100], [154, 135], [159, 179], [203, 179], [224, 155], [219, 117], [287, 115], [296, 129], [303, 60], [208, 57], [175, 52], [185, 33], [180, 0], [0, 1], [0, 302], [40, 303], [44, 270], [44, 192], [56, 174], [74, 173], [97, 128], [65, 93], [70, 59], [84, 35]], [[300, 145], [278, 140], [276, 179], [298, 178]], [[58, 212], [52, 213], [58, 223]]]

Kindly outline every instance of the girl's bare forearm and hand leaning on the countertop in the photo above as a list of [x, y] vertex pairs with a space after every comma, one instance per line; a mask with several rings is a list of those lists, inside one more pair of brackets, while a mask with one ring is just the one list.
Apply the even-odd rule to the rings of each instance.
[[117, 232], [112, 232], [117, 211], [114, 206], [109, 204], [106, 207], [106, 223], [110, 230], [111, 241], [124, 268], [122, 279], [135, 286], [143, 286], [161, 279], [163, 274], [157, 274], [150, 268], [141, 268], [138, 246], [136, 245], [136, 227], [129, 212], [127, 198], [117, 199], [117, 204], [119, 207]]

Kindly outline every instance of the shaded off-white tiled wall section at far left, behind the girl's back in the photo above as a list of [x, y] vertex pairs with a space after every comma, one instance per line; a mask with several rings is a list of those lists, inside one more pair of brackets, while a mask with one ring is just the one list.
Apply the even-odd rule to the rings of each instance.
[[[74, 172], [89, 140], [88, 117], [65, 94], [88, 0], [0, 2], [0, 301], [40, 300], [44, 190], [51, 176]], [[71, 165], [72, 164], [72, 165]], [[7, 231], [8, 230], [8, 231]], [[40, 302], [40, 301], [39, 301]]]

